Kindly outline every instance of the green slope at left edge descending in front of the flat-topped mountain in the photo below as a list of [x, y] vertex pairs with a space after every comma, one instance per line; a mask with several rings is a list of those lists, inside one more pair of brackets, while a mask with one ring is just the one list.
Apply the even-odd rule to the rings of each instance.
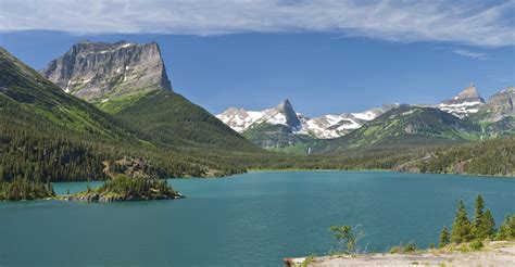
[[[10, 116], [2, 116], [2, 119], [24, 117], [33, 123], [48, 123], [52, 127], [96, 138], [136, 139], [134, 132], [117, 120], [64, 93], [3, 48], [0, 48], [0, 97], [3, 104], [13, 109]], [[8, 112], [8, 109], [3, 111]], [[28, 113], [32, 117], [27, 116]]]

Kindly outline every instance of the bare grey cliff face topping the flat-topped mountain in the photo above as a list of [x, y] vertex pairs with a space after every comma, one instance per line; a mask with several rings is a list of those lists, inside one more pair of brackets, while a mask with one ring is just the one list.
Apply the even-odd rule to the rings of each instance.
[[172, 90], [155, 42], [79, 42], [40, 74], [65, 92], [90, 102]]

